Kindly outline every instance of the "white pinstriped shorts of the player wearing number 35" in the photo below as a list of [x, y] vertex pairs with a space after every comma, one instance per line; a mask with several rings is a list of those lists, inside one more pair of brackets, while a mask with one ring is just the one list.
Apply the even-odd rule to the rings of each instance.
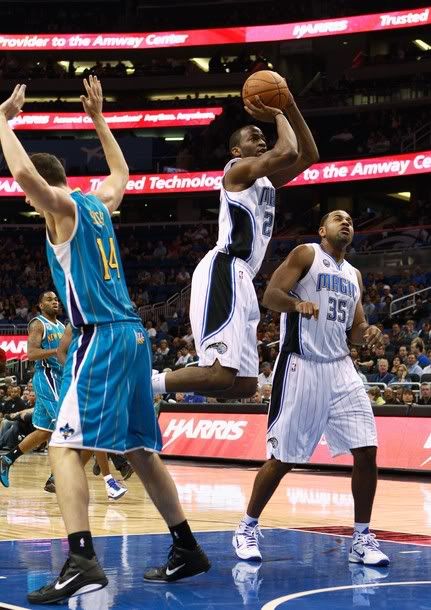
[[268, 414], [268, 458], [306, 463], [322, 434], [333, 456], [357, 447], [377, 447], [364, 384], [349, 356], [315, 362], [281, 352]]

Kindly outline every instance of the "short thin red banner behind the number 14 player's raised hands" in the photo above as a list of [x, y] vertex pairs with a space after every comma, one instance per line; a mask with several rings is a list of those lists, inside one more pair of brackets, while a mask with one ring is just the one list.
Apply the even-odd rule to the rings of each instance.
[[[130, 110], [104, 112], [111, 129], [154, 129], [155, 127], [194, 127], [209, 125], [223, 112], [221, 106], [212, 108], [180, 108], [176, 110]], [[93, 121], [85, 112], [22, 112], [9, 121], [15, 130], [94, 130]]]

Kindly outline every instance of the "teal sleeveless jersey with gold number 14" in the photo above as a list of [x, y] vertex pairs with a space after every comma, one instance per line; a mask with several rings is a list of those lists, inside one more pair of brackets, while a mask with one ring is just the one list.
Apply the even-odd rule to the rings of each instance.
[[72, 326], [139, 321], [127, 290], [108, 209], [92, 194], [70, 193], [75, 226], [70, 239], [51, 242], [47, 256], [58, 295]]

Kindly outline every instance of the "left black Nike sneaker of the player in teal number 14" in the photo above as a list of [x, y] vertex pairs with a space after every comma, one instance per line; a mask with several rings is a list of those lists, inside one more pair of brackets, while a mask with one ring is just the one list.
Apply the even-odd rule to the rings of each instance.
[[27, 599], [32, 604], [56, 604], [69, 597], [103, 589], [107, 584], [108, 579], [97, 557], [86, 559], [71, 553], [59, 577], [51, 584], [29, 593]]

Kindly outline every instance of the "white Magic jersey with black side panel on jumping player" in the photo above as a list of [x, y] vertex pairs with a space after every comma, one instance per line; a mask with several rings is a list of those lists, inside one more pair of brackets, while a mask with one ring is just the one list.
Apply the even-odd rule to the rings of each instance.
[[[231, 159], [223, 175], [240, 159]], [[220, 191], [219, 235], [216, 249], [244, 260], [253, 275], [259, 271], [274, 226], [275, 188], [258, 178], [245, 191]]]

